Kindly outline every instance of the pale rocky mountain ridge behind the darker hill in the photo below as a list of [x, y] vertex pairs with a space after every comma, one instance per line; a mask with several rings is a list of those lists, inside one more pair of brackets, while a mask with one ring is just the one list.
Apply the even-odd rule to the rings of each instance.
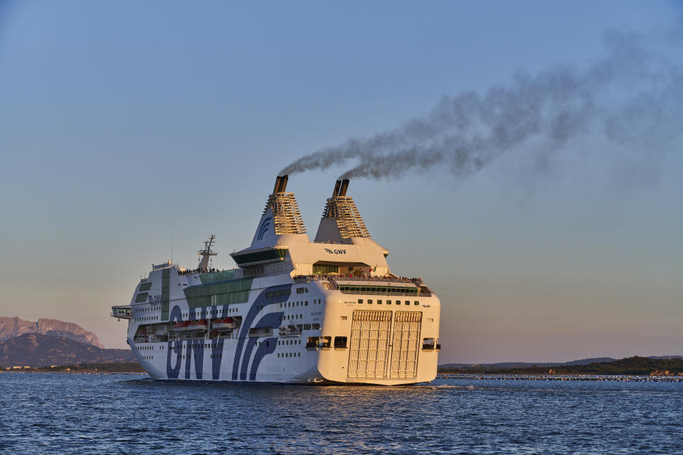
[[38, 319], [38, 322], [33, 322], [0, 316], [0, 341], [16, 338], [25, 333], [63, 336], [79, 343], [91, 344], [102, 349], [105, 348], [95, 333], [89, 332], [73, 322], [63, 322], [57, 319]]

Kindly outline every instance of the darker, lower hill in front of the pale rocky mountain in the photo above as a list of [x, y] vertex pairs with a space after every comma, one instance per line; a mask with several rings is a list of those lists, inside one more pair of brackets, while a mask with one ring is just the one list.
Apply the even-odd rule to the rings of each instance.
[[24, 333], [10, 340], [0, 341], [0, 365], [66, 365], [83, 362], [132, 362], [129, 349], [103, 349], [88, 343], [73, 341], [64, 336]]

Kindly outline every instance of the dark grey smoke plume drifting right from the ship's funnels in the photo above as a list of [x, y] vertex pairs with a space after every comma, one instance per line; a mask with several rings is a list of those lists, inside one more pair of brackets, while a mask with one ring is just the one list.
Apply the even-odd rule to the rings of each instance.
[[483, 95], [444, 96], [425, 117], [302, 156], [280, 175], [346, 165], [343, 178], [435, 166], [467, 176], [530, 144], [552, 154], [585, 137], [651, 154], [682, 130], [683, 71], [642, 36], [611, 33], [605, 43], [606, 56], [586, 68], [519, 74]]

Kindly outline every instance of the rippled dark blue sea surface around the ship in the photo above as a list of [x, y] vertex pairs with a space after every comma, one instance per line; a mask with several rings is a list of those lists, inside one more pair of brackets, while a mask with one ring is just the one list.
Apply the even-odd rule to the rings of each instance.
[[683, 383], [0, 374], [1, 454], [683, 454]]

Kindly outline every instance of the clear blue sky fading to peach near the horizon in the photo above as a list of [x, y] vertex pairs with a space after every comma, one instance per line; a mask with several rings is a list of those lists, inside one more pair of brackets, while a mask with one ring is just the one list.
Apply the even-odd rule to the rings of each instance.
[[[235, 267], [292, 161], [445, 95], [586, 68], [610, 33], [683, 63], [682, 16], [678, 1], [0, 0], [0, 316], [124, 348], [110, 306], [171, 245], [196, 264], [212, 232], [216, 267]], [[638, 132], [351, 181], [392, 271], [440, 296], [440, 363], [683, 354], [683, 138]], [[290, 177], [309, 235], [346, 170]]]

